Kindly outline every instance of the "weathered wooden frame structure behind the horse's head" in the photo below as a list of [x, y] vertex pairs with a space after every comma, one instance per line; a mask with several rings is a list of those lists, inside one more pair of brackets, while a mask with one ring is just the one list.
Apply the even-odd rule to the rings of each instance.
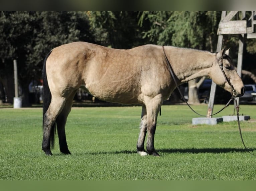
[[[239, 13], [241, 15], [239, 16]], [[234, 17], [240, 17], [240, 20], [232, 20]], [[239, 47], [238, 47], [238, 58], [237, 58], [237, 73], [241, 77], [242, 71], [242, 60], [243, 60], [243, 49], [245, 39], [256, 38], [256, 11], [251, 11], [251, 17], [246, 20], [246, 12], [245, 11], [222, 11], [221, 13], [221, 21], [219, 23], [219, 28], [217, 34], [218, 43], [217, 43], [217, 51], [220, 52], [222, 49], [223, 43], [223, 35], [230, 34], [239, 34]], [[207, 115], [213, 114], [213, 105], [215, 98], [216, 84], [212, 82], [211, 93], [208, 103]], [[239, 98], [238, 98], [239, 103]]]

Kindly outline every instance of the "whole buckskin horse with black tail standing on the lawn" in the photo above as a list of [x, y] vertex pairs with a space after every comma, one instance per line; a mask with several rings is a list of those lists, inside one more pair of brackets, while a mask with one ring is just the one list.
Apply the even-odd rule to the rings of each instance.
[[137, 152], [140, 155], [159, 156], [154, 147], [157, 115], [163, 101], [176, 88], [170, 67], [178, 85], [206, 76], [235, 97], [244, 94], [243, 82], [225, 49], [220, 53], [210, 53], [144, 45], [120, 50], [87, 42], [74, 42], [52, 49], [43, 65], [42, 150], [46, 155], [52, 154], [50, 148], [54, 145], [57, 127], [60, 152], [70, 154], [65, 125], [73, 98], [77, 90], [83, 87], [101, 100], [142, 104]]

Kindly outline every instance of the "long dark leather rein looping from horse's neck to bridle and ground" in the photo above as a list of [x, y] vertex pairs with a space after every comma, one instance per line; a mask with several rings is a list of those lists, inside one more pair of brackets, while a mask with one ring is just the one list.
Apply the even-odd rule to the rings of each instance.
[[[222, 73], [223, 73], [223, 76], [224, 76], [224, 78], [225, 78], [225, 81], [228, 82], [228, 84], [229, 84], [230, 87], [231, 87], [232, 96], [231, 96], [230, 100], [227, 102], [227, 104], [226, 104], [221, 110], [219, 110], [218, 112], [216, 112], [216, 113], [214, 113], [214, 114], [212, 114], [212, 115], [202, 115], [202, 114], [196, 112], [196, 111], [188, 104], [188, 102], [187, 102], [186, 99], [184, 98], [183, 94], [181, 93], [181, 91], [180, 91], [180, 89], [179, 89], [179, 86], [178, 86], [178, 83], [177, 83], [177, 81], [176, 81], [176, 78], [177, 78], [177, 77], [174, 76], [174, 72], [173, 72], [173, 69], [172, 69], [172, 67], [171, 67], [171, 64], [170, 64], [170, 62], [169, 62], [169, 60], [168, 60], [168, 58], [167, 58], [167, 56], [166, 56], [166, 54], [165, 54], [164, 46], [162, 46], [162, 48], [163, 48], [164, 58], [165, 58], [165, 61], [166, 61], [166, 63], [167, 63], [167, 66], [168, 66], [168, 70], [169, 70], [169, 72], [170, 72], [170, 74], [171, 74], [171, 77], [172, 77], [172, 79], [173, 79], [173, 81], [174, 81], [174, 83], [175, 83], [175, 85], [176, 85], [176, 88], [177, 88], [177, 90], [178, 90], [178, 92], [179, 92], [181, 98], [183, 99], [183, 101], [185, 101], [185, 103], [187, 104], [187, 106], [188, 106], [193, 112], [195, 112], [196, 114], [198, 114], [198, 115], [200, 115], [200, 116], [210, 117], [210, 116], [213, 116], [213, 115], [218, 114], [218, 113], [221, 112], [223, 109], [225, 109], [227, 106], [229, 106], [229, 103], [230, 103], [232, 100], [235, 101], [235, 104], [236, 104], [236, 112], [237, 112], [237, 122], [238, 122], [238, 128], [239, 128], [239, 133], [240, 133], [240, 137], [241, 137], [242, 143], [243, 143], [244, 148], [246, 149], [246, 151], [249, 152], [250, 154], [254, 155], [253, 153], [251, 153], [251, 152], [249, 151], [249, 149], [248, 149], [248, 148], [245, 146], [245, 144], [244, 144], [244, 140], [243, 140], [243, 136], [242, 136], [242, 132], [241, 132], [240, 120], [239, 120], [239, 106], [238, 106], [238, 103], [237, 103], [237, 98], [234, 96], [236, 91], [235, 91], [234, 87], [232, 86], [232, 84], [231, 84], [229, 78], [226, 76], [226, 74], [225, 74], [225, 72], [224, 72], [224, 70], [223, 70], [223, 57], [220, 59], [221, 62], [219, 62], [219, 66], [220, 66], [220, 69], [221, 69], [221, 71], [222, 71]], [[224, 57], [225, 57], [225, 56], [224, 56]], [[254, 155], [254, 156], [255, 156], [255, 155]]]

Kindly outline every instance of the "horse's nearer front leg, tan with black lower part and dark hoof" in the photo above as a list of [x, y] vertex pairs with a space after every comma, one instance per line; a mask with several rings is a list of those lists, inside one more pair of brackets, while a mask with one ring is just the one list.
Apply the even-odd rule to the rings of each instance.
[[147, 108], [147, 153], [159, 156], [154, 147], [154, 136], [156, 130], [157, 115], [160, 111], [163, 102], [162, 95], [159, 94], [153, 98], [148, 97], [146, 108]]

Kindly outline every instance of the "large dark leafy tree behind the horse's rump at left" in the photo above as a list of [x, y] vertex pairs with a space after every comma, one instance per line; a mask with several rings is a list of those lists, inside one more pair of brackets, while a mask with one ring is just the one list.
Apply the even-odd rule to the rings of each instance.
[[88, 17], [81, 11], [2, 11], [0, 14], [1, 81], [12, 102], [13, 59], [18, 63], [22, 105], [29, 106], [28, 85], [41, 78], [45, 55], [73, 41], [94, 42]]

